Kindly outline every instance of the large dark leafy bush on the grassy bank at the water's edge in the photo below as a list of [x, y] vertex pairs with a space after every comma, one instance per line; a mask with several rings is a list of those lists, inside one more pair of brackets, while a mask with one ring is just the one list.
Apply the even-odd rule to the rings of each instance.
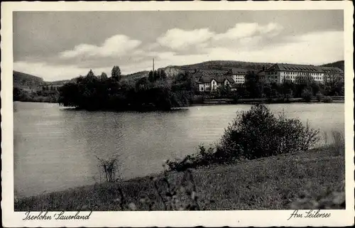
[[318, 133], [299, 119], [288, 119], [285, 114], [277, 118], [266, 106], [257, 104], [237, 114], [216, 153], [224, 159], [239, 160], [307, 151], [319, 140]]

